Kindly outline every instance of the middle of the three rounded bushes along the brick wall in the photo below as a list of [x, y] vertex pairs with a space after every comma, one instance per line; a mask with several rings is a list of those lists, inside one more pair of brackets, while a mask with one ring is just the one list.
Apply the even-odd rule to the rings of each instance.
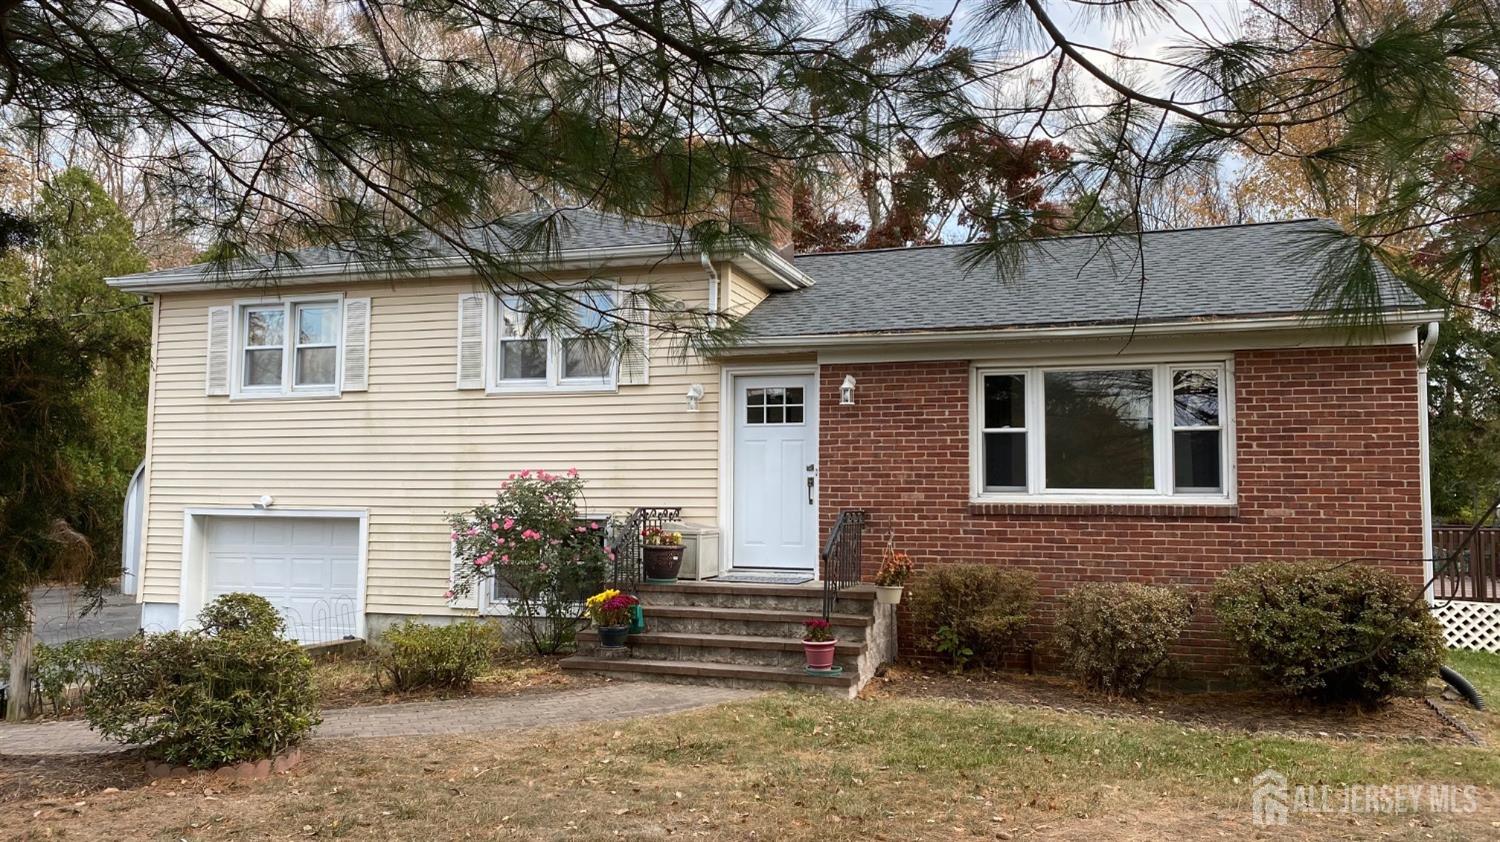
[[1074, 588], [1058, 612], [1064, 668], [1084, 687], [1137, 696], [1192, 617], [1186, 594], [1142, 584]]

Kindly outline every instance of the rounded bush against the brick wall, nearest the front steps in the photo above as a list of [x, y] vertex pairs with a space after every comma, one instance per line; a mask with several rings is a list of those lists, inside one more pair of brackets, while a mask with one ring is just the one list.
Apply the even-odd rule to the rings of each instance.
[[999, 665], [1022, 638], [1036, 602], [1036, 575], [990, 564], [945, 564], [912, 587], [912, 612], [954, 668]]

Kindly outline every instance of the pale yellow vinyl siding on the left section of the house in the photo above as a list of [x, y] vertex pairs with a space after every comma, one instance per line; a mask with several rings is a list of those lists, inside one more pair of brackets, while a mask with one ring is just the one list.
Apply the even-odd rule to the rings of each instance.
[[[640, 284], [645, 278], [620, 278]], [[650, 282], [705, 306], [702, 270], [663, 270]], [[484, 395], [454, 386], [458, 299], [470, 281], [297, 287], [369, 297], [369, 390], [339, 398], [204, 396], [208, 308], [246, 290], [159, 299], [148, 425], [150, 477], [142, 599], [176, 602], [183, 509], [368, 509], [366, 611], [442, 612], [448, 576], [446, 512], [490, 497], [520, 468], [576, 467], [590, 512], [681, 506], [717, 516], [718, 369], [651, 342], [651, 383], [618, 392]], [[704, 386], [698, 413], [684, 395]]]

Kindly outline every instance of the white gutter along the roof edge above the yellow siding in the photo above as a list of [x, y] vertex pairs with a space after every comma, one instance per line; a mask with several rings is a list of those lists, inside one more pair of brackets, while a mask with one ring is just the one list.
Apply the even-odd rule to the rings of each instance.
[[[802, 275], [786, 260], [771, 252], [756, 249], [754, 252], [740, 252], [734, 257], [744, 257], [759, 263], [758, 278], [772, 279], [788, 290], [801, 290], [812, 285], [812, 279]], [[730, 257], [730, 260], [734, 260]], [[645, 261], [688, 261], [676, 243], [646, 243], [639, 246], [610, 246], [598, 249], [572, 249], [562, 254], [528, 252], [513, 255], [510, 260], [519, 267], [532, 269], [568, 269], [568, 267], [604, 267]], [[471, 275], [472, 264], [464, 257], [440, 257], [414, 260], [398, 266], [388, 261], [358, 261], [312, 264], [312, 266], [280, 266], [267, 269], [238, 269], [230, 272], [214, 272], [212, 269], [189, 269], [183, 272], [162, 272], [146, 275], [123, 275], [105, 278], [105, 282], [116, 290], [132, 293], [165, 293], [174, 290], [214, 288], [232, 282], [267, 282], [280, 281], [288, 284], [315, 284], [320, 281], [392, 281], [399, 278], [447, 278], [454, 275]]]

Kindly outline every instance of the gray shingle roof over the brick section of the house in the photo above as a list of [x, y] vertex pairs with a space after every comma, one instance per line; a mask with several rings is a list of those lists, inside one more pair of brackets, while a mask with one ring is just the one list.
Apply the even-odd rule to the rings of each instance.
[[[1245, 318], [1304, 312], [1326, 275], [1335, 222], [1059, 237], [1028, 246], [1014, 278], [972, 246], [926, 246], [796, 258], [813, 287], [776, 293], [742, 321], [753, 336], [966, 330]], [[1146, 284], [1140, 275], [1144, 263]], [[1384, 269], [1384, 309], [1422, 302]]]

